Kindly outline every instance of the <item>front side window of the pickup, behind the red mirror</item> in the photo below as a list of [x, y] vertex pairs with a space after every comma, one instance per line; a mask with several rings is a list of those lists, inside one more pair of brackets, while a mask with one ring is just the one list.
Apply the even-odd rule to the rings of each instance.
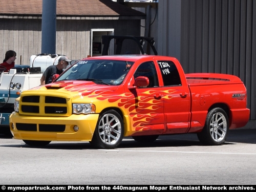
[[148, 88], [158, 87], [158, 77], [157, 71], [153, 61], [148, 61], [141, 63], [141, 65], [137, 68], [134, 73], [134, 78], [138, 76], [145, 76], [150, 80], [150, 84], [147, 86]]

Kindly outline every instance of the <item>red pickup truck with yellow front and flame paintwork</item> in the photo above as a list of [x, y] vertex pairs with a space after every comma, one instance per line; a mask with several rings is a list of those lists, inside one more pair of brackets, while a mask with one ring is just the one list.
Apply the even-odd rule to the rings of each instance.
[[84, 58], [51, 84], [22, 92], [10, 116], [15, 139], [29, 145], [89, 141], [118, 147], [159, 135], [196, 133], [221, 145], [229, 129], [246, 125], [244, 83], [227, 74], [184, 74], [174, 57], [113, 55]]

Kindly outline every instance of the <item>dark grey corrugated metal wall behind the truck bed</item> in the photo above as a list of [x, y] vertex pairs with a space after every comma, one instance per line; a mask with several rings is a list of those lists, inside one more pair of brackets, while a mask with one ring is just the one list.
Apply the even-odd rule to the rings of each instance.
[[[180, 61], [185, 73], [212, 72], [239, 76], [248, 93], [250, 119], [256, 119], [256, 1], [181, 0]], [[177, 3], [174, 2], [173, 3]], [[163, 25], [171, 31], [169, 0], [160, 0]], [[162, 5], [161, 5], [162, 4]], [[175, 5], [176, 6], [176, 5]], [[161, 15], [159, 16], [159, 18]], [[160, 22], [160, 21], [159, 21]], [[161, 33], [158, 32], [158, 36]], [[166, 32], [165, 32], [166, 33]], [[172, 35], [170, 33], [170, 35]], [[164, 34], [163, 34], [164, 36]], [[165, 42], [168, 42], [166, 39]], [[167, 55], [170, 44], [163, 43]]]

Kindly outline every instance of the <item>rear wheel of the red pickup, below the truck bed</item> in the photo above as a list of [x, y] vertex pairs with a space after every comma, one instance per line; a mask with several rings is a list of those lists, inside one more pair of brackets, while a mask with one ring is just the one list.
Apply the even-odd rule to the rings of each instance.
[[207, 114], [204, 128], [197, 137], [203, 144], [221, 145], [227, 138], [228, 129], [229, 120], [226, 112], [221, 108], [215, 108]]

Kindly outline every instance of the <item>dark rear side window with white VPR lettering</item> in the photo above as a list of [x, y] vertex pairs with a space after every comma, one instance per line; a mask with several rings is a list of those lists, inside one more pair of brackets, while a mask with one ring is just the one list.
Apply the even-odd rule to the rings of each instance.
[[164, 86], [180, 86], [181, 80], [179, 72], [172, 61], [158, 61], [163, 77]]

